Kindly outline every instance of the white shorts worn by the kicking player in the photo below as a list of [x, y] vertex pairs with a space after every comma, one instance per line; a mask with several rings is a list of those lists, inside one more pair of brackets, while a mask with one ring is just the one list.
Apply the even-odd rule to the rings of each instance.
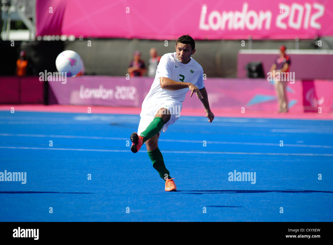
[[158, 103], [150, 103], [149, 101], [144, 101], [142, 103], [141, 113], [140, 113], [140, 123], [138, 128], [138, 135], [140, 135], [143, 131], [146, 130], [146, 128], [149, 126], [149, 124], [154, 120], [155, 115], [159, 111], [160, 108], [166, 108], [170, 111], [171, 117], [170, 120], [166, 122], [166, 124], [163, 125], [161, 131], [159, 132], [159, 138], [161, 135], [161, 132], [166, 132], [169, 125], [174, 124], [178, 118], [180, 117], [180, 111], [182, 109], [182, 103], [177, 100], [161, 100]]

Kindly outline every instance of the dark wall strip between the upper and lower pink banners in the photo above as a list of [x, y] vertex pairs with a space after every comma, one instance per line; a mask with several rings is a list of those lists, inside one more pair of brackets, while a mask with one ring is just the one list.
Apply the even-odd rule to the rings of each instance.
[[[91, 41], [91, 47], [88, 46]], [[333, 38], [325, 38], [333, 47]], [[10, 41], [0, 42], [1, 70], [0, 75], [14, 75], [16, 60], [21, 50], [27, 52], [30, 67], [28, 75], [38, 75], [44, 70], [56, 71], [55, 60], [63, 50], [74, 50], [82, 58], [87, 75], [111, 75], [125, 76], [133, 52], [140, 50], [142, 59], [148, 66], [149, 50], [155, 47], [159, 55], [175, 51], [175, 40], [137, 40], [137, 39], [84, 39], [75, 41], [15, 41], [15, 47], [10, 46]], [[240, 49], [248, 49], [248, 41], [245, 47], [241, 46], [241, 40], [220, 41], [196, 41], [196, 52], [192, 56], [203, 67], [208, 77], [236, 77], [237, 54]], [[253, 41], [253, 49], [278, 49], [282, 44], [294, 49], [295, 41]], [[323, 41], [323, 48], [325, 46]], [[314, 49], [313, 40], [301, 40], [300, 49]], [[6, 59], [5, 59], [5, 58]]]

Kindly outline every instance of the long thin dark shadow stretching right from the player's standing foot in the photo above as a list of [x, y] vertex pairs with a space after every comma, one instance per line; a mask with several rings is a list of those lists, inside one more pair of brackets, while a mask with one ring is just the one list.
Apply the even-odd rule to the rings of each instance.
[[[310, 190], [291, 190], [286, 189], [283, 191], [272, 190], [192, 190], [192, 191], [177, 191], [181, 192], [180, 194], [222, 194], [222, 193], [268, 193], [268, 192], [277, 192], [277, 193], [333, 193], [333, 191], [310, 191]], [[197, 193], [187, 193], [187, 192], [197, 192]]]

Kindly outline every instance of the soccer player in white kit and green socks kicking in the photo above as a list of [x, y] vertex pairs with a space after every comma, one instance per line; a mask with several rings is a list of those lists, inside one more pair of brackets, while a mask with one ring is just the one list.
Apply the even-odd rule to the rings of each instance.
[[207, 91], [203, 83], [203, 69], [191, 55], [195, 52], [195, 42], [189, 35], [177, 39], [176, 52], [161, 57], [157, 66], [155, 80], [142, 103], [138, 133], [131, 135], [131, 151], [136, 153], [146, 143], [147, 153], [153, 167], [165, 180], [165, 190], [175, 191], [176, 185], [163, 161], [158, 147], [161, 131], [166, 132], [168, 126], [175, 123], [180, 116], [185, 94], [190, 90], [201, 100], [208, 122], [212, 122], [214, 114], [208, 103]]

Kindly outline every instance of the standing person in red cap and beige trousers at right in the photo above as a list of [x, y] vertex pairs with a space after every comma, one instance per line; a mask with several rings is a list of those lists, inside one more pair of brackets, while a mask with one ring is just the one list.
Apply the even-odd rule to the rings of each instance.
[[[275, 70], [275, 74], [277, 72], [289, 72], [290, 69], [290, 57], [286, 55], [286, 46], [282, 45], [280, 47], [279, 57], [275, 60], [274, 64], [271, 66], [270, 72], [273, 73]], [[274, 74], [274, 73], [273, 73]], [[279, 102], [279, 111], [278, 112], [288, 112], [288, 98], [287, 98], [287, 83], [288, 81], [280, 81], [279, 79], [274, 78], [274, 86]]]

